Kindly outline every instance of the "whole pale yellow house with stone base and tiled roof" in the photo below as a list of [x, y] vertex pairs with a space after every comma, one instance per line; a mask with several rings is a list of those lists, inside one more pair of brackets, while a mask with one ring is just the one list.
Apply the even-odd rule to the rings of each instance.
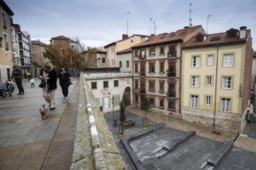
[[198, 34], [182, 47], [181, 117], [222, 131], [241, 131], [250, 99], [250, 30]]

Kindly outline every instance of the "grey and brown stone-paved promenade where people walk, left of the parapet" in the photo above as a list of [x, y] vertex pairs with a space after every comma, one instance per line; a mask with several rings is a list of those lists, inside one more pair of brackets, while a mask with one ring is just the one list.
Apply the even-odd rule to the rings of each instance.
[[[78, 109], [78, 87], [69, 87], [69, 100], [56, 90], [56, 109], [42, 120], [42, 89], [23, 80], [25, 95], [0, 98], [0, 169], [69, 169]], [[77, 86], [77, 85], [76, 85]]]

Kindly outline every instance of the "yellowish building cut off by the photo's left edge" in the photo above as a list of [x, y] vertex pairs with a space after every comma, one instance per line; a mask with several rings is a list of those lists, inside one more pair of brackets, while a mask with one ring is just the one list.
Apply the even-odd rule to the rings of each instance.
[[14, 13], [2, 0], [0, 0], [0, 12], [0, 82], [3, 82], [10, 78], [12, 72], [11, 16]]

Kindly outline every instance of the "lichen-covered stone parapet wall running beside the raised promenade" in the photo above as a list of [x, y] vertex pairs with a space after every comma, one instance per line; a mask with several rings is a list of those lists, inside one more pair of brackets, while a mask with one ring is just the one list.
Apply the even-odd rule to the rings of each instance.
[[77, 131], [70, 169], [125, 169], [113, 135], [96, 104], [91, 89], [81, 76]]

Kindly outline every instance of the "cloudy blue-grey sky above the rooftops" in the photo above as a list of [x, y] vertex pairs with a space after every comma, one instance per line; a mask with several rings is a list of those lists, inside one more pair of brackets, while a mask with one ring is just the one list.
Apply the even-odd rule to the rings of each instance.
[[[156, 21], [157, 34], [176, 31], [189, 24], [202, 25], [208, 33], [247, 26], [252, 30], [256, 50], [255, 0], [4, 0], [14, 23], [29, 31], [32, 39], [50, 43], [53, 36], [79, 37], [85, 47], [98, 47], [129, 35], [149, 34], [149, 18]], [[153, 24], [152, 24], [153, 25]], [[152, 29], [153, 30], [153, 27]], [[153, 32], [153, 31], [152, 31]]]

